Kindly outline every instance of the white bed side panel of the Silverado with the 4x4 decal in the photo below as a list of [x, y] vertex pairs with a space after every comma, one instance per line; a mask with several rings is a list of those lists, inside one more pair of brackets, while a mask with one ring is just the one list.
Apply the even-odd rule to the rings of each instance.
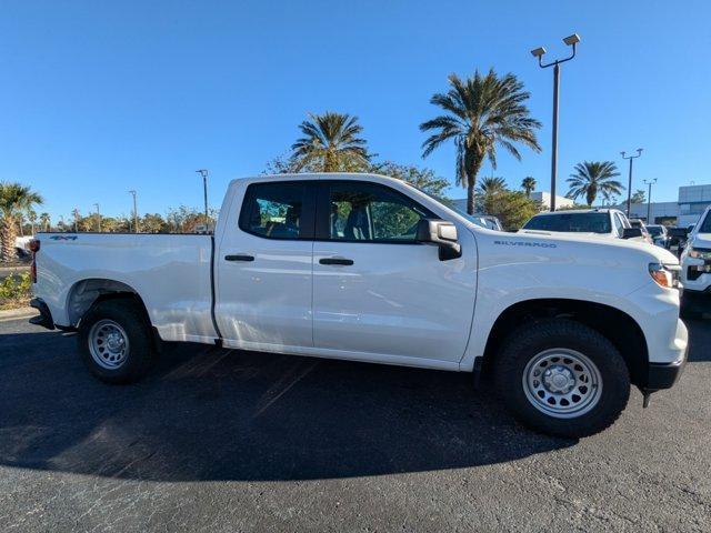
[[106, 292], [101, 280], [113, 280], [141, 295], [161, 339], [211, 342], [218, 336], [212, 321], [211, 235], [39, 233], [37, 238], [38, 292], [57, 325], [77, 325], [82, 302], [93, 300], [98, 288]]

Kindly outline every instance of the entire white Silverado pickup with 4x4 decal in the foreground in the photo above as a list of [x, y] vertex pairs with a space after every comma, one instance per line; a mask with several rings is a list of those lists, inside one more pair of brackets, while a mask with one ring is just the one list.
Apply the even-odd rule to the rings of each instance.
[[141, 378], [163, 341], [474, 372], [529, 426], [579, 438], [685, 361], [668, 251], [480, 228], [381, 175], [234, 180], [214, 235], [33, 249], [34, 322], [78, 330], [108, 382]]

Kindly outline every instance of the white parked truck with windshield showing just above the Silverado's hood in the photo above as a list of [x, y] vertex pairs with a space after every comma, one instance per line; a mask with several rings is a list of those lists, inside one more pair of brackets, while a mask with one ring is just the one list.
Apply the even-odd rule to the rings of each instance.
[[541, 232], [649, 242], [643, 231], [640, 228], [632, 228], [624, 213], [617, 209], [580, 209], [539, 213], [519, 230], [519, 233], [541, 234]]

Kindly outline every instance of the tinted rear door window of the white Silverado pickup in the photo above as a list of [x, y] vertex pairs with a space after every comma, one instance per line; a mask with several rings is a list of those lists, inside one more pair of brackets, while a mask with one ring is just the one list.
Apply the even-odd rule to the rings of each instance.
[[312, 239], [310, 182], [253, 183], [247, 188], [240, 229], [266, 239]]

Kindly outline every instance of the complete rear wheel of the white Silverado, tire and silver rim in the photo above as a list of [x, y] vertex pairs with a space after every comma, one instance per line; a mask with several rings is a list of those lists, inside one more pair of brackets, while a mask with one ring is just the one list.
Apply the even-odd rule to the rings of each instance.
[[93, 305], [81, 320], [78, 342], [89, 371], [108, 383], [138, 381], [153, 360], [150, 325], [129, 299]]

